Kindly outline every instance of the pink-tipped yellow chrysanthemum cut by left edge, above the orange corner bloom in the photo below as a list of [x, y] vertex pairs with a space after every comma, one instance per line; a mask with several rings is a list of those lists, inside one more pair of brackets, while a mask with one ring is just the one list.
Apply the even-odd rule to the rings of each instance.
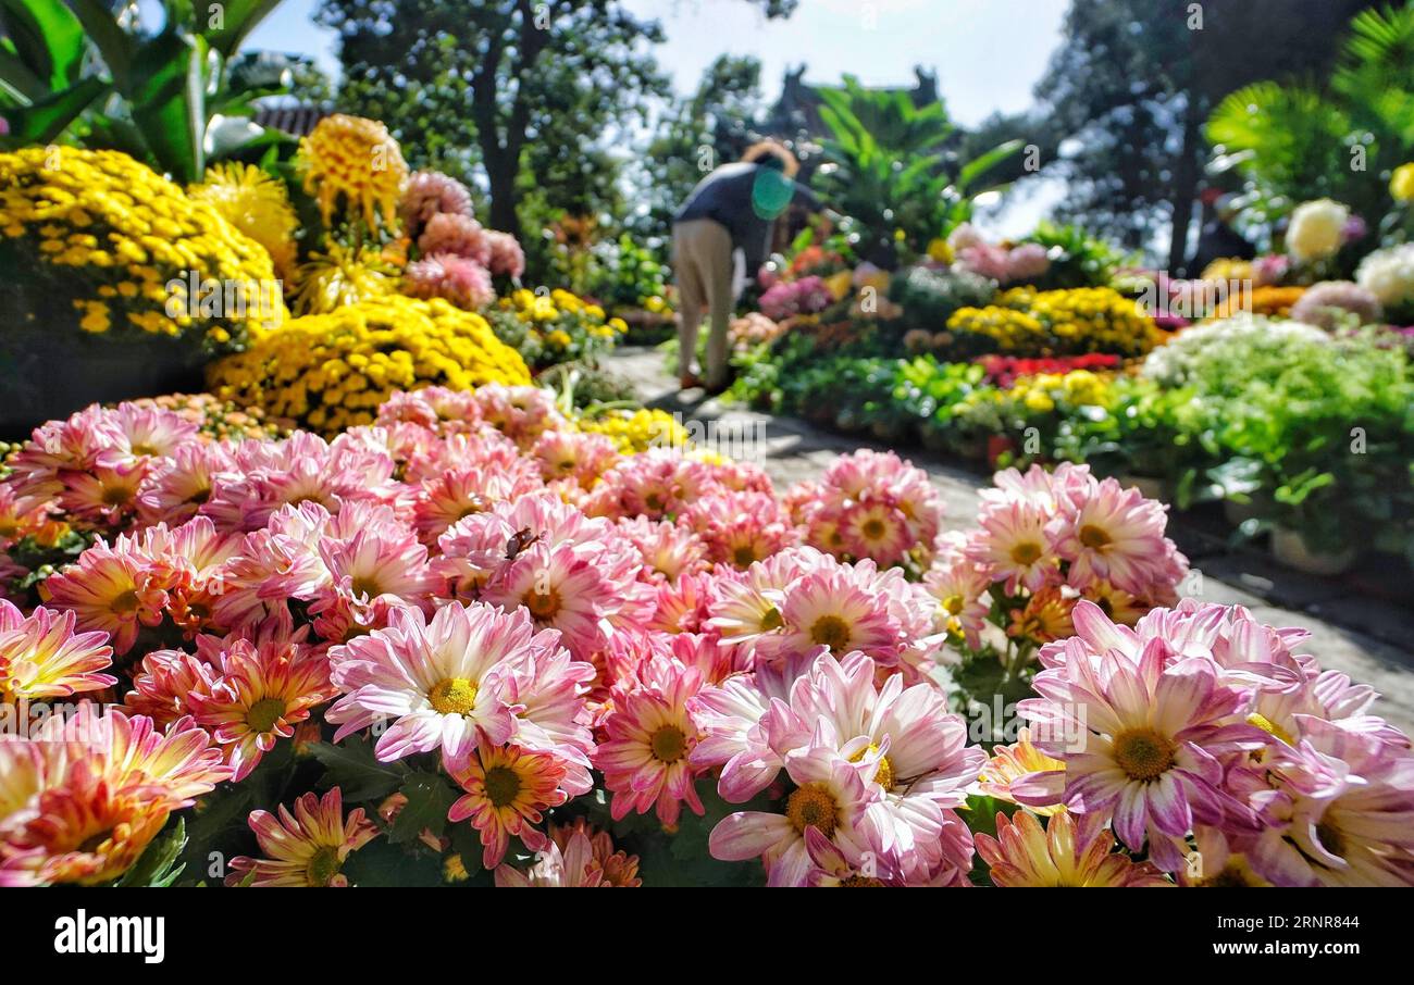
[[65, 698], [117, 683], [99, 673], [113, 663], [105, 633], [75, 633], [72, 612], [28, 616], [0, 599], [0, 705]]

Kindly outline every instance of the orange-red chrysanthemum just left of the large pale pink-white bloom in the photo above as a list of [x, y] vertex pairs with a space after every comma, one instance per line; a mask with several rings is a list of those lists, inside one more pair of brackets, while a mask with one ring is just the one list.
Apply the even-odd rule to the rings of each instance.
[[300, 643], [236, 640], [222, 653], [218, 673], [211, 690], [194, 691], [187, 704], [197, 724], [225, 746], [238, 781], [337, 694], [328, 660]]

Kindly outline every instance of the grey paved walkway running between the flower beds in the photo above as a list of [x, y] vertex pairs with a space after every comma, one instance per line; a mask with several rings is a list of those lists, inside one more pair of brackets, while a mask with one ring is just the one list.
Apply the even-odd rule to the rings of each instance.
[[[680, 413], [687, 423], [715, 423], [723, 434], [762, 435], [758, 464], [782, 488], [819, 476], [836, 455], [860, 447], [885, 448], [822, 431], [799, 418], [772, 417], [721, 400], [684, 400], [663, 355], [650, 348], [622, 348], [607, 360], [605, 369], [631, 380], [643, 403]], [[700, 396], [700, 391], [691, 393]], [[966, 526], [977, 514], [977, 490], [988, 485], [987, 476], [937, 461], [922, 448], [896, 451], [928, 471], [943, 497], [950, 524]], [[1229, 550], [1226, 534], [1200, 519], [1179, 519], [1169, 524], [1169, 534], [1202, 572], [1200, 598], [1244, 605], [1271, 626], [1309, 629], [1312, 639], [1307, 650], [1322, 667], [1373, 685], [1383, 695], [1374, 707], [1376, 714], [1414, 733], [1414, 611], [1410, 606], [1372, 595], [1357, 579], [1312, 578], [1288, 571], [1257, 551]], [[1408, 579], [1407, 570], [1387, 575]]]

